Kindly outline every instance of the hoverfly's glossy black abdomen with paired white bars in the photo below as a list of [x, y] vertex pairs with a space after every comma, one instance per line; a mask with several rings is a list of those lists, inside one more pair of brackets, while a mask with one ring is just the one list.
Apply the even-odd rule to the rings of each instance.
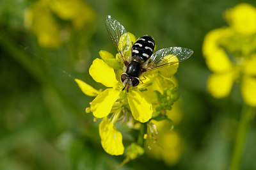
[[132, 45], [132, 58], [140, 57], [144, 63], [153, 54], [155, 41], [152, 36], [144, 35]]

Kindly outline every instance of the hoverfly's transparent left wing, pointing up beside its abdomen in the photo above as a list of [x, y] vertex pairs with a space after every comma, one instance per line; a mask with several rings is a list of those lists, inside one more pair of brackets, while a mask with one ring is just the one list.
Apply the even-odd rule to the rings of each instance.
[[118, 22], [118, 20], [108, 15], [105, 20], [105, 25], [108, 30], [109, 36], [118, 50], [123, 63], [127, 63], [127, 55], [131, 53], [132, 42], [125, 27]]

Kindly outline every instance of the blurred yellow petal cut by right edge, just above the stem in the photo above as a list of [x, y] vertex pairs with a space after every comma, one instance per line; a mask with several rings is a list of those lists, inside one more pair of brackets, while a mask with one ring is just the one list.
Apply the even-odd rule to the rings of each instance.
[[241, 92], [246, 104], [256, 106], [256, 79], [255, 77], [244, 77], [241, 84]]

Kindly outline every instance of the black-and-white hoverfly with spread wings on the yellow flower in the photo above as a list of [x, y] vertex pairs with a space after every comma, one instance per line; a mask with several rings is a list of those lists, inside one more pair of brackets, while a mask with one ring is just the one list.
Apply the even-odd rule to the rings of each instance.
[[[170, 66], [188, 59], [193, 50], [183, 47], [168, 47], [154, 52], [155, 41], [152, 36], [145, 35], [134, 44], [131, 42], [125, 27], [118, 20], [108, 15], [105, 20], [108, 33], [120, 54], [120, 60], [124, 63], [124, 73], [121, 81], [124, 88], [136, 87], [140, 84], [140, 76], [143, 72], [149, 72], [163, 66]], [[170, 61], [168, 57], [175, 56], [177, 61]]]

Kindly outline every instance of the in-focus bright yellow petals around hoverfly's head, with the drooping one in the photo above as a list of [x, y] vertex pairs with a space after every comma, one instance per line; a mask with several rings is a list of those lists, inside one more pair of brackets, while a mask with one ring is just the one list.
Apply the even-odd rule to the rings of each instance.
[[[111, 57], [108, 52], [104, 51], [100, 51], [100, 56], [104, 59], [108, 59], [109, 56]], [[120, 93], [126, 92], [122, 91], [122, 87], [120, 88], [122, 84], [116, 80], [114, 69], [108, 66], [102, 59], [97, 58], [93, 61], [89, 73], [96, 82], [100, 82], [108, 88], [99, 93], [99, 91], [85, 82], [79, 79], [75, 81], [84, 94], [96, 96], [92, 101], [91, 111], [96, 118], [104, 118], [99, 125], [102, 147], [110, 155], [122, 155], [124, 153], [122, 134], [116, 130], [114, 125], [122, 110], [122, 105], [119, 106], [118, 112], [113, 113], [111, 120], [107, 116], [111, 112], [111, 109], [113, 109], [116, 100], [122, 95]], [[127, 100], [135, 120], [145, 122], [151, 118], [152, 104], [145, 99], [145, 96], [140, 90], [130, 90], [127, 93]]]

